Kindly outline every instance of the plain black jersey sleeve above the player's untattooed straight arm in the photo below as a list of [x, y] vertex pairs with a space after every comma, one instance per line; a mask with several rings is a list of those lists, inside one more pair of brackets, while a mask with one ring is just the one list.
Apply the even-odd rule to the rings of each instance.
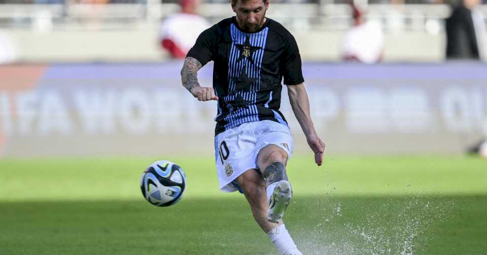
[[304, 82], [298, 44], [290, 33], [285, 43], [282, 63], [284, 84], [295, 85]]

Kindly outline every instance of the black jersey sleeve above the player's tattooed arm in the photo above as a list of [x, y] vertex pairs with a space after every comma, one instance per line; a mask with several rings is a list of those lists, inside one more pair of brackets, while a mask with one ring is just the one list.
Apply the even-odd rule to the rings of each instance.
[[186, 57], [195, 58], [204, 66], [206, 63], [213, 60], [215, 53], [215, 45], [217, 41], [217, 35], [215, 33], [215, 26], [210, 27], [198, 36], [196, 43], [186, 55]]

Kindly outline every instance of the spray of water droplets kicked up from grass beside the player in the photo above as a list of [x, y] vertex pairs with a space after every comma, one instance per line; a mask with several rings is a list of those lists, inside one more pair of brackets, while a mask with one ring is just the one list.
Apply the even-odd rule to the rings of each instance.
[[384, 198], [364, 206], [360, 217], [349, 218], [343, 205], [328, 204], [321, 221], [296, 238], [304, 254], [424, 254], [430, 241], [427, 231], [445, 221], [453, 207], [451, 202], [420, 196]]

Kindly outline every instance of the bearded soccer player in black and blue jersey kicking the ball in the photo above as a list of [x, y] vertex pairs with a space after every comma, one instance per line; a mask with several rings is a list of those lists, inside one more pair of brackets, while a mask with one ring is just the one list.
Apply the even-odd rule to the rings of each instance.
[[[236, 16], [203, 31], [181, 70], [183, 86], [199, 101], [218, 100], [215, 157], [220, 190], [239, 190], [255, 221], [282, 254], [302, 254], [283, 224], [292, 198], [286, 163], [293, 152], [279, 111], [281, 80], [294, 114], [321, 165], [325, 144], [309, 115], [301, 57], [293, 35], [265, 17], [268, 0], [232, 0]], [[213, 88], [197, 72], [214, 61]]]

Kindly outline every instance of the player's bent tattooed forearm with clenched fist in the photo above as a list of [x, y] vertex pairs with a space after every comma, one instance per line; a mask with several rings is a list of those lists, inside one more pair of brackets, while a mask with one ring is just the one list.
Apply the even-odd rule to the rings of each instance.
[[201, 63], [192, 57], [184, 60], [183, 69], [181, 69], [181, 81], [186, 88], [198, 101], [218, 100], [215, 91], [211, 87], [201, 87], [198, 82], [198, 70], [201, 69]]

